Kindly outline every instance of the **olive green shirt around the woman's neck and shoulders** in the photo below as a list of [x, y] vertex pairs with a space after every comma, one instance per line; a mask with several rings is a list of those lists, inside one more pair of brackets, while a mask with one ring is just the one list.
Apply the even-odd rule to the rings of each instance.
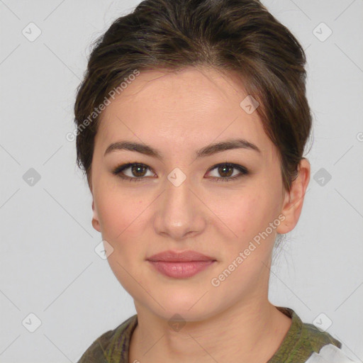
[[[305, 363], [313, 352], [318, 353], [325, 345], [342, 347], [329, 333], [321, 332], [312, 324], [303, 323], [291, 308], [277, 308], [291, 318], [291, 326], [279, 349], [267, 363]], [[136, 325], [137, 314], [98, 337], [77, 363], [129, 363], [130, 337]]]

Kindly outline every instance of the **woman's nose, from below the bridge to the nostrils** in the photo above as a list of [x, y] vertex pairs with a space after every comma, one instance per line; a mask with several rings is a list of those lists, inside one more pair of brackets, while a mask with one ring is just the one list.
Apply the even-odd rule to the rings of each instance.
[[195, 194], [188, 178], [179, 186], [166, 180], [154, 215], [157, 234], [181, 241], [203, 233], [207, 224], [203, 214], [206, 211]]

